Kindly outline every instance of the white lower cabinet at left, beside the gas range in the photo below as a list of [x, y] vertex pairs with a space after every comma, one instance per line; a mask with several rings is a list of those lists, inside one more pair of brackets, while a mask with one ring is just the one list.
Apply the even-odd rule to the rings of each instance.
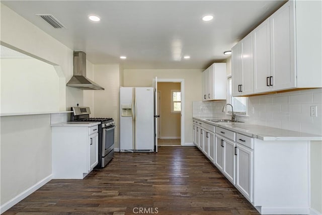
[[52, 126], [53, 179], [83, 179], [98, 164], [98, 126]]

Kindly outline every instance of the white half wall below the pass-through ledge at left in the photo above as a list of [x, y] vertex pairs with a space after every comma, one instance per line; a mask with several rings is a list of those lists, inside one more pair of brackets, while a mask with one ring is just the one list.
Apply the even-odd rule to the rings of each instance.
[[1, 206], [50, 176], [50, 115], [2, 116]]

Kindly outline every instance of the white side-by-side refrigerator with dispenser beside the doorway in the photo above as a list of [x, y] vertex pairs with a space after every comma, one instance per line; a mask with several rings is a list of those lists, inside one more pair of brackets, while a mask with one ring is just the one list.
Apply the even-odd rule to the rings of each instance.
[[120, 152], [154, 152], [151, 87], [120, 88]]

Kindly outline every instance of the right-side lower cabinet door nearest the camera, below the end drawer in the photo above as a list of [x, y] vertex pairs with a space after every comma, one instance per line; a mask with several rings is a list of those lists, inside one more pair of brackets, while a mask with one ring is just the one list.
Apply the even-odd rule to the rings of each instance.
[[253, 202], [253, 150], [236, 144], [236, 188]]

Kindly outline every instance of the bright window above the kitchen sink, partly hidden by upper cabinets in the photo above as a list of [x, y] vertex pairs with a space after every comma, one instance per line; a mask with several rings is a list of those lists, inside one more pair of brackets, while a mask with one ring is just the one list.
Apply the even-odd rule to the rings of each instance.
[[[233, 112], [238, 115], [246, 115], [247, 110], [247, 97], [232, 97], [232, 83], [231, 76], [227, 80], [227, 103], [230, 103], [233, 106]], [[231, 107], [227, 106], [227, 112], [231, 113]]]

